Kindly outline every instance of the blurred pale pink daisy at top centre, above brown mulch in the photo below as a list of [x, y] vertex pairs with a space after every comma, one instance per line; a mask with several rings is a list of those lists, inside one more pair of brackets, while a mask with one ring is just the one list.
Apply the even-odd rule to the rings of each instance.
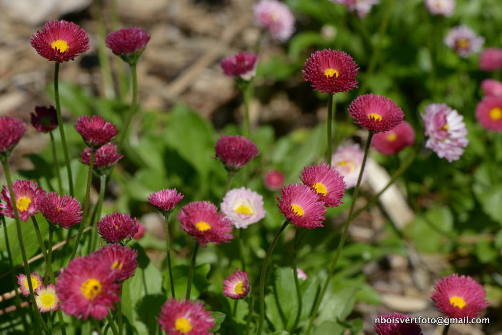
[[276, 0], [261, 0], [253, 5], [253, 13], [255, 24], [267, 29], [275, 39], [286, 42], [295, 31], [295, 17], [286, 4]]

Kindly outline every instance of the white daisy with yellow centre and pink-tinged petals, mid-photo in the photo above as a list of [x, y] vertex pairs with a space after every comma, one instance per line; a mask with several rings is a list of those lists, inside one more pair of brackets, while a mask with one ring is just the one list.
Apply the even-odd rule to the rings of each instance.
[[235, 228], [247, 228], [265, 217], [263, 197], [241, 187], [227, 192], [221, 202], [221, 212], [229, 218]]

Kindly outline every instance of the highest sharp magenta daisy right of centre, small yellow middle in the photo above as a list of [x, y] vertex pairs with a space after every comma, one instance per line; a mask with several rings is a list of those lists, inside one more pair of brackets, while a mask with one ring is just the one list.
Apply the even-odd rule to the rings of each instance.
[[321, 93], [335, 94], [358, 87], [355, 77], [359, 68], [344, 51], [324, 49], [310, 54], [302, 73], [314, 91], [320, 90]]

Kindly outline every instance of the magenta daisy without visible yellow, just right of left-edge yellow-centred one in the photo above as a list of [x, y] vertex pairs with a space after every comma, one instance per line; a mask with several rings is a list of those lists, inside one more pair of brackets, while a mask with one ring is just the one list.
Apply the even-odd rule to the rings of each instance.
[[47, 194], [40, 205], [40, 213], [49, 223], [66, 229], [82, 221], [80, 202], [71, 196], [58, 196], [56, 192]]

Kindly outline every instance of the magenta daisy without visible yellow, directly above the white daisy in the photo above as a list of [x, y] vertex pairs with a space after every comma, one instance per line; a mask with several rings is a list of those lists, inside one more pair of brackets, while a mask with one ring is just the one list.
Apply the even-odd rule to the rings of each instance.
[[216, 158], [223, 162], [228, 171], [238, 171], [260, 154], [255, 142], [239, 135], [221, 136], [216, 141], [214, 151], [216, 151]]

